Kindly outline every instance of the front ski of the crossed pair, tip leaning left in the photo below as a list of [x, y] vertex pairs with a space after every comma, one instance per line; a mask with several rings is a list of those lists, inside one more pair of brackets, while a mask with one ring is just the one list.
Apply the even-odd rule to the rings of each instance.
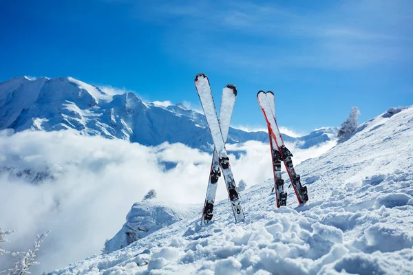
[[[211, 93], [211, 86], [209, 80], [204, 74], [195, 76], [195, 87], [200, 97], [202, 109], [204, 110], [205, 118], [211, 132], [212, 140], [215, 145], [215, 152], [218, 155], [218, 163], [224, 176], [226, 190], [228, 191], [229, 200], [231, 201], [231, 208], [235, 217], [235, 222], [244, 220], [244, 211], [242, 210], [240, 195], [237, 192], [237, 186], [229, 164], [229, 157], [226, 154], [224, 138], [220, 128], [220, 121], [218, 120], [217, 111], [213, 102]], [[233, 94], [237, 93], [235, 86], [231, 86]]]

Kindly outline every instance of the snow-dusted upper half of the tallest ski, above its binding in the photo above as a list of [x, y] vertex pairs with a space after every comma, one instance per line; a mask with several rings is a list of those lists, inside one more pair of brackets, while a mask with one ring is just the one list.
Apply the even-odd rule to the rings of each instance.
[[226, 157], [224, 139], [222, 138], [220, 122], [218, 121], [208, 78], [204, 75], [199, 75], [198, 81], [195, 82], [195, 87], [200, 96], [202, 109], [204, 109], [205, 118], [207, 118], [215, 149], [220, 157]]

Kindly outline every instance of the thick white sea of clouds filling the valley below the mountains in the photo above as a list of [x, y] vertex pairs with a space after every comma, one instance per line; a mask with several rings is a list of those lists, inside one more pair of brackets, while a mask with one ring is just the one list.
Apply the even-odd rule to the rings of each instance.
[[[287, 145], [298, 164], [335, 141], [306, 150]], [[272, 177], [268, 144], [250, 141], [228, 149], [237, 181], [252, 186]], [[74, 131], [1, 131], [0, 224], [16, 230], [3, 248], [27, 250], [36, 234], [52, 230], [39, 251], [41, 265], [34, 269], [39, 272], [98, 254], [131, 205], [152, 188], [158, 199], [198, 203], [201, 211], [210, 165], [209, 153], [183, 144], [142, 146]], [[217, 199], [225, 197], [220, 179]], [[0, 266], [11, 261], [3, 256]]]

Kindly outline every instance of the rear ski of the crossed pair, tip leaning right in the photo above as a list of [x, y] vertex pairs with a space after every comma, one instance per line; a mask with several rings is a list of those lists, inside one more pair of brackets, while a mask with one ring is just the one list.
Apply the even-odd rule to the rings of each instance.
[[[229, 124], [231, 123], [235, 98], [237, 96], [233, 92], [234, 90], [236, 90], [236, 88], [233, 85], [226, 85], [222, 90], [222, 99], [220, 105], [220, 128], [224, 142], [226, 142], [226, 137], [228, 137]], [[217, 192], [218, 179], [220, 178], [220, 176], [221, 171], [219, 158], [214, 148], [211, 163], [211, 172], [209, 173], [207, 195], [205, 197], [204, 208], [202, 209], [201, 225], [208, 223], [213, 217], [215, 194]]]

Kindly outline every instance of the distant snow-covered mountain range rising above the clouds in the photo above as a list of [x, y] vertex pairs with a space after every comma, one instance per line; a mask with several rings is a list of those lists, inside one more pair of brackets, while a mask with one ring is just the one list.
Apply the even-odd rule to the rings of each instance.
[[[109, 94], [74, 78], [12, 78], [0, 83], [0, 130], [59, 131], [102, 135], [153, 146], [180, 142], [211, 151], [204, 115], [182, 104], [143, 102], [136, 94]], [[337, 129], [323, 128], [303, 137], [284, 135], [286, 142], [309, 148], [335, 140]], [[231, 128], [228, 142], [267, 141], [264, 131]]]

